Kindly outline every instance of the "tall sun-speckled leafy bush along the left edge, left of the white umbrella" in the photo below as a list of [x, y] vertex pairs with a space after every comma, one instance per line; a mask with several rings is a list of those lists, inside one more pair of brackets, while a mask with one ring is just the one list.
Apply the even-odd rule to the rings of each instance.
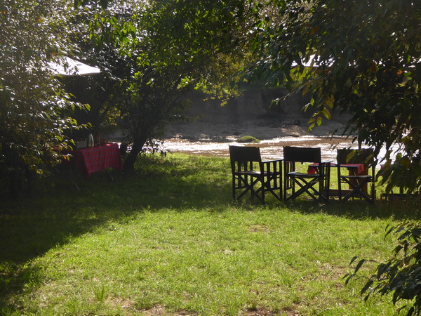
[[[48, 2], [48, 1], [47, 1]], [[76, 104], [48, 69], [66, 47], [58, 1], [6, 0], [0, 4], [0, 173], [12, 193], [22, 178], [46, 174], [76, 121], [64, 112]]]

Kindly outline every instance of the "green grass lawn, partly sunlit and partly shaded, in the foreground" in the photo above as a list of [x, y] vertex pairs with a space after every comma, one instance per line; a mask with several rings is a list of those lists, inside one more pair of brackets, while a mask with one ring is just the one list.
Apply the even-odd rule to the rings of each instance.
[[[229, 160], [147, 156], [1, 205], [0, 315], [394, 315], [345, 285], [415, 212], [366, 202], [231, 200]], [[368, 267], [364, 268], [366, 272]], [[371, 265], [373, 268], [373, 265]]]

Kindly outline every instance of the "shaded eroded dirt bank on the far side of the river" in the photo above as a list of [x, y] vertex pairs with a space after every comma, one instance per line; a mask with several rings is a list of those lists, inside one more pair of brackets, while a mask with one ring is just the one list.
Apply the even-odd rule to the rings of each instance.
[[310, 112], [302, 107], [308, 100], [295, 95], [279, 101], [286, 92], [282, 89], [245, 91], [243, 95], [230, 99], [221, 105], [220, 100], [203, 100], [200, 93], [189, 96], [192, 105], [187, 116], [196, 117], [188, 123], [168, 126], [166, 138], [227, 138], [253, 136], [260, 140], [285, 136], [327, 136], [335, 129], [341, 129], [347, 116], [333, 113], [331, 120], [323, 120], [321, 126], [307, 131]]

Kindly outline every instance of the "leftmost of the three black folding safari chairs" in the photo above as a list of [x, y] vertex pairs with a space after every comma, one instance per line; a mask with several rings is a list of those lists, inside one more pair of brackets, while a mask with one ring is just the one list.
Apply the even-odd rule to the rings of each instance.
[[259, 147], [245, 146], [229, 146], [229, 157], [234, 201], [247, 192], [262, 204], [265, 204], [265, 192], [271, 192], [276, 199], [282, 200], [282, 160], [262, 162]]

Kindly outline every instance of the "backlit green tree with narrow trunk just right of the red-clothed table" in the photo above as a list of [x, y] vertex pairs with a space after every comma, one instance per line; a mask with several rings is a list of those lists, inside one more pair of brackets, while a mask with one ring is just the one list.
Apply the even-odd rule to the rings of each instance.
[[248, 2], [110, 2], [91, 16], [89, 41], [119, 86], [119, 127], [132, 144], [125, 169], [180, 117], [186, 91], [210, 89], [236, 72], [231, 66], [243, 57], [243, 29], [253, 15]]

